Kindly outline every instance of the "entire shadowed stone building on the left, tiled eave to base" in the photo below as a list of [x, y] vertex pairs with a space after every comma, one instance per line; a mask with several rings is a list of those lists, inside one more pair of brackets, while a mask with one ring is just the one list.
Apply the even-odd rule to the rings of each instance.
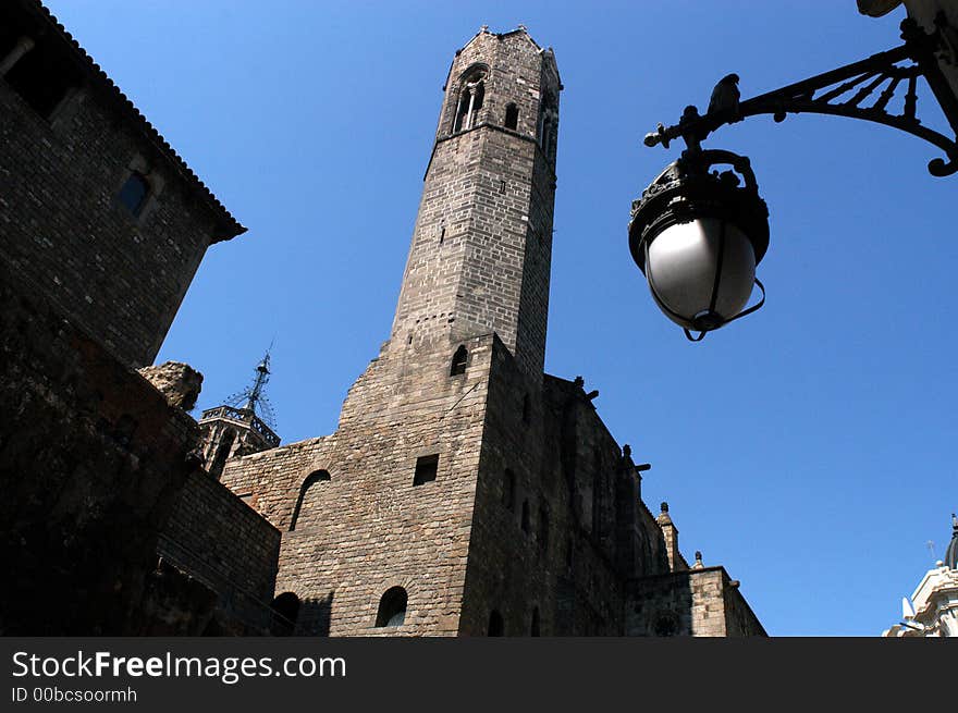
[[202, 469], [201, 374], [131, 368], [242, 226], [33, 0], [0, 114], [0, 634], [268, 631], [280, 536]]

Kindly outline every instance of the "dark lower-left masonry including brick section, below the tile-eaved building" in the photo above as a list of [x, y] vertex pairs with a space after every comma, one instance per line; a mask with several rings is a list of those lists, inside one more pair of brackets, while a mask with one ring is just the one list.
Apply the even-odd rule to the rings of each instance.
[[269, 630], [280, 533], [200, 467], [182, 408], [2, 262], [0, 396], [0, 634]]

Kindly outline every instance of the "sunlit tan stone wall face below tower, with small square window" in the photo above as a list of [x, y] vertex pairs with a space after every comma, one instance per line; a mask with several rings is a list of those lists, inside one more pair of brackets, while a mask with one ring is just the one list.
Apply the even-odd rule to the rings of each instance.
[[[283, 532], [277, 593], [300, 601], [298, 634], [451, 636], [479, 468], [492, 335], [388, 344], [351, 389], [336, 433], [228, 462], [222, 482]], [[434, 479], [417, 462], [438, 456]], [[408, 598], [377, 627], [382, 595]]]

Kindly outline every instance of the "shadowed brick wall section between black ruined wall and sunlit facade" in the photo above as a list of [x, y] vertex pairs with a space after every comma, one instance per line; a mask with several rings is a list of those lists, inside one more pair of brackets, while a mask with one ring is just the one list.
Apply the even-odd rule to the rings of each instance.
[[222, 627], [269, 630], [280, 532], [205, 470], [186, 479], [158, 553], [217, 593]]

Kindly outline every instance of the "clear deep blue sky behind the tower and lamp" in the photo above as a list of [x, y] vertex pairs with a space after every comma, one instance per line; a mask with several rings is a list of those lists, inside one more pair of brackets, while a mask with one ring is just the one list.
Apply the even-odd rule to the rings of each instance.
[[[159, 355], [246, 385], [275, 339], [284, 441], [335, 429], [389, 336], [441, 87], [488, 24], [555, 50], [558, 187], [546, 370], [581, 374], [667, 500], [687, 556], [724, 564], [773, 635], [874, 636], [941, 557], [954, 465], [958, 177], [936, 150], [839, 118], [750, 119], [771, 211], [757, 315], [701, 344], [655, 308], [627, 246], [630, 201], [678, 153], [656, 122], [888, 49], [902, 10], [802, 2], [48, 0], [249, 228], [212, 247]], [[942, 124], [928, 93], [926, 124]]]

